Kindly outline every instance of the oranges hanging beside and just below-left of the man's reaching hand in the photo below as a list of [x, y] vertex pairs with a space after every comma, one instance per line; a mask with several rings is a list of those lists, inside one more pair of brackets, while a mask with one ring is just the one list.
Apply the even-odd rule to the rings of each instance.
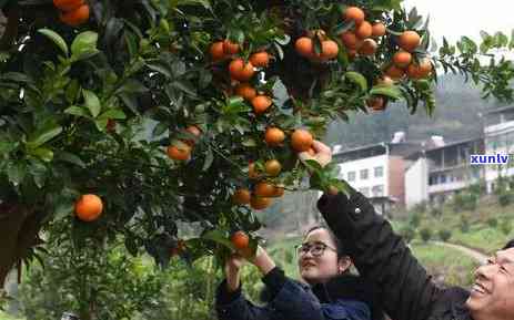
[[[265, 143], [271, 147], [283, 145], [285, 133], [279, 127], [268, 127], [264, 134]], [[306, 130], [295, 130], [291, 134], [291, 147], [295, 152], [314, 153], [312, 149], [313, 136]], [[248, 176], [253, 180], [252, 190], [248, 188], [239, 188], [232, 196], [232, 200], [238, 205], [250, 205], [255, 210], [268, 208], [272, 204], [272, 199], [282, 197], [284, 188], [281, 185], [275, 185], [269, 178], [279, 176], [282, 171], [282, 165], [278, 159], [269, 159], [264, 163], [264, 172], [259, 172], [255, 163], [250, 163], [248, 167]]]

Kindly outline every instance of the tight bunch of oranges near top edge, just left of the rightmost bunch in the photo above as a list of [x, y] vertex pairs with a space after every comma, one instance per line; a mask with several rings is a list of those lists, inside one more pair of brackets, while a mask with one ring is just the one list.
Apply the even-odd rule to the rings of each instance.
[[350, 59], [360, 55], [374, 55], [379, 44], [376, 39], [385, 35], [385, 25], [382, 22], [373, 24], [365, 20], [365, 13], [357, 7], [349, 7], [344, 11], [345, 21], [355, 23], [352, 30], [341, 33], [341, 41], [346, 48]]

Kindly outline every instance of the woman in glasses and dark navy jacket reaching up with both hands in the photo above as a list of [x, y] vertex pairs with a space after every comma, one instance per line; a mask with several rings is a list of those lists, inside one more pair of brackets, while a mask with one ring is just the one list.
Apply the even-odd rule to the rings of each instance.
[[352, 262], [326, 228], [309, 230], [298, 248], [298, 265], [304, 283], [285, 277], [261, 247], [250, 262], [263, 275], [269, 303], [258, 307], [243, 297], [240, 281], [243, 259], [233, 256], [225, 264], [226, 279], [218, 288], [220, 320], [382, 319], [372, 318], [372, 313], [381, 314], [373, 304], [375, 292], [359, 277], [349, 275]]

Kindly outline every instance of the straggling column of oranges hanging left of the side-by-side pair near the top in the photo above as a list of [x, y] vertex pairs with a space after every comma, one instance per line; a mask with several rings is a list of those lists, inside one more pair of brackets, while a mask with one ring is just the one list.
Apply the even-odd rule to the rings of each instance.
[[235, 94], [246, 100], [253, 106], [253, 112], [259, 115], [265, 113], [273, 101], [265, 94], [259, 92], [249, 83], [255, 74], [256, 68], [266, 68], [270, 63], [270, 54], [260, 50], [250, 55], [249, 61], [236, 56], [240, 45], [230, 40], [218, 41], [211, 44], [209, 50], [214, 62], [231, 59], [229, 63], [230, 78], [238, 82]]

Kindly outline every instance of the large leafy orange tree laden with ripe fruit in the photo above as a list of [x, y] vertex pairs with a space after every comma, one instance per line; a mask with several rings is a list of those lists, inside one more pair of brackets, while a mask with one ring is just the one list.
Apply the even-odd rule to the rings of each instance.
[[[162, 265], [220, 254], [305, 176], [344, 189], [298, 158], [332, 118], [396, 100], [430, 114], [440, 70], [512, 97], [512, 64], [481, 63], [512, 40], [430, 54], [401, 2], [0, 0], [0, 280], [56, 219]], [[202, 236], [180, 241], [179, 221]]]

